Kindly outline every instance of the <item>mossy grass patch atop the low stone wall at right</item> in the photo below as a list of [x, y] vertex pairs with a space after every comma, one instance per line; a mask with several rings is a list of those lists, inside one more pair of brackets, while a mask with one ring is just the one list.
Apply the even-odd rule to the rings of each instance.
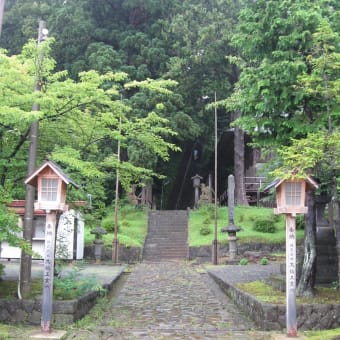
[[[286, 293], [274, 289], [262, 281], [239, 283], [237, 288], [250, 295], [255, 296], [259, 301], [271, 304], [283, 305], [286, 303]], [[297, 297], [298, 304], [340, 304], [339, 291], [333, 288], [317, 287], [314, 297]]]

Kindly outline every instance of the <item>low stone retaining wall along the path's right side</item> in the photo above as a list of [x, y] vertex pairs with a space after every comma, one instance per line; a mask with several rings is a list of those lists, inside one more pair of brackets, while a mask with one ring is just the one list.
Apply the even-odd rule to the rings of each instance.
[[[286, 328], [286, 306], [262, 303], [209, 273], [221, 289], [243, 310], [256, 325], [265, 331]], [[297, 305], [297, 324], [301, 330], [333, 329], [340, 327], [340, 305]]]

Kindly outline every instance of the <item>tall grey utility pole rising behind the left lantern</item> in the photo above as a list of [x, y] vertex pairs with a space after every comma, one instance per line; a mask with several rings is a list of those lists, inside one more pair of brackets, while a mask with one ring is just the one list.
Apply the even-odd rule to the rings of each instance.
[[[47, 37], [47, 29], [45, 21], [39, 21], [38, 31], [38, 48], [40, 43]], [[38, 65], [41, 67], [42, 54], [38, 51]], [[36, 80], [34, 91], [40, 91], [41, 79], [40, 70], [36, 70]], [[33, 103], [32, 111], [39, 111], [39, 104]], [[39, 134], [39, 121], [36, 120], [31, 124], [30, 128], [30, 149], [28, 155], [28, 169], [27, 175], [30, 176], [36, 167], [37, 149], [38, 149], [38, 134]], [[34, 199], [35, 199], [35, 187], [30, 184], [26, 184], [26, 197], [25, 197], [25, 215], [24, 215], [24, 226], [23, 226], [23, 238], [29, 244], [32, 245], [32, 231], [33, 231], [33, 219], [34, 219]], [[31, 290], [31, 267], [32, 267], [32, 256], [22, 250], [21, 263], [20, 263], [20, 292], [21, 295], [26, 298], [30, 294]]]

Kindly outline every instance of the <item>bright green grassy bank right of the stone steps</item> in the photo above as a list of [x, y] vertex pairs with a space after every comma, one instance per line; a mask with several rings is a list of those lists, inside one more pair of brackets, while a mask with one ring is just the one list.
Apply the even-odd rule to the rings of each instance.
[[[190, 213], [189, 221], [189, 244], [190, 246], [211, 245], [213, 240], [214, 218], [210, 219], [209, 228], [211, 233], [201, 235], [200, 229], [207, 219], [204, 209], [198, 209]], [[253, 230], [254, 221], [257, 219], [273, 219], [277, 231], [275, 233], [263, 233]], [[243, 207], [235, 208], [235, 224], [242, 228], [237, 233], [239, 243], [259, 242], [259, 243], [284, 243], [286, 238], [286, 225], [284, 216], [275, 216], [271, 208]], [[222, 233], [221, 228], [228, 225], [227, 207], [218, 208], [217, 219], [217, 239], [222, 243], [227, 242], [227, 233]], [[303, 238], [303, 230], [297, 230], [298, 240]]]

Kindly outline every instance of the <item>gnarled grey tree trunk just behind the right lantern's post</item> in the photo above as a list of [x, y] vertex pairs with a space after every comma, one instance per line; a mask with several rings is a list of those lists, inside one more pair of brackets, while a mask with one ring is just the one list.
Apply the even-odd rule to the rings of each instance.
[[308, 212], [305, 217], [304, 257], [297, 296], [313, 296], [316, 271], [316, 218], [314, 192], [307, 190]]

